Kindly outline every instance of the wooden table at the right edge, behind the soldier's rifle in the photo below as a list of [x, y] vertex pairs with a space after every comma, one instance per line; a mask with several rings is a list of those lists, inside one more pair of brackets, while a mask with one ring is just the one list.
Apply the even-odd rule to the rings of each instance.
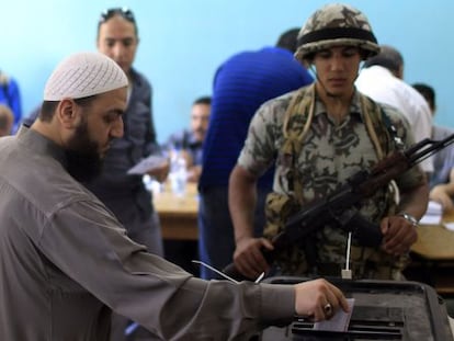
[[[443, 215], [442, 223], [451, 221], [454, 212]], [[411, 253], [410, 271], [418, 275], [415, 280], [432, 285], [439, 294], [454, 294], [454, 231], [443, 225], [421, 225]]]

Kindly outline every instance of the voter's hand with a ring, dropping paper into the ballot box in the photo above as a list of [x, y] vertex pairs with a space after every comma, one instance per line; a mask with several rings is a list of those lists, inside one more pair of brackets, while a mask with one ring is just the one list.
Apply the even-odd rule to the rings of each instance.
[[349, 311], [349, 304], [342, 292], [326, 280], [315, 280], [295, 285], [295, 311], [315, 321], [330, 319], [342, 308]]

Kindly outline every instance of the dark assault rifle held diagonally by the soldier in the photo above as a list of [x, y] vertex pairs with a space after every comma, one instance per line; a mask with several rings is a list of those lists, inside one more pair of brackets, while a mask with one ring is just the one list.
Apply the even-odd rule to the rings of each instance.
[[[305, 205], [288, 218], [284, 229], [273, 238], [274, 249], [271, 251], [262, 249], [266, 262], [271, 264], [275, 254], [290, 246], [304, 246], [310, 234], [328, 223], [334, 223], [343, 230], [351, 231], [362, 246], [379, 246], [382, 242], [379, 227], [359, 212], [362, 201], [373, 196], [378, 189], [388, 185], [391, 180], [452, 143], [454, 143], [454, 134], [442, 140], [427, 138], [406, 150], [395, 151], [371, 170], [361, 170], [350, 177], [344, 184], [324, 200]], [[311, 249], [314, 252], [314, 246]], [[308, 259], [315, 259], [314, 254], [306, 255]], [[224, 273], [238, 281], [248, 280], [234, 263], [227, 265]]]

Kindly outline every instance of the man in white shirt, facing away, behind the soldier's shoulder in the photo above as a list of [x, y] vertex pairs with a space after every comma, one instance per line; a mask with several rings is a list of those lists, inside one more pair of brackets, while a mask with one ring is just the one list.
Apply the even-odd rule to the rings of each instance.
[[[382, 45], [379, 54], [364, 62], [355, 86], [374, 101], [397, 107], [410, 123], [418, 143], [431, 137], [432, 115], [424, 98], [402, 79], [401, 54], [391, 46]], [[420, 164], [425, 173], [433, 172], [432, 158]]]

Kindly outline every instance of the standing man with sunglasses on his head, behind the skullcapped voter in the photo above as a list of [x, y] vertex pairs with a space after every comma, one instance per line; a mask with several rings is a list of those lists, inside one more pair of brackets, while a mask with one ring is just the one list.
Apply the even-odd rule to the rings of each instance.
[[[103, 158], [103, 168], [97, 177], [83, 184], [123, 224], [127, 236], [146, 246], [148, 251], [163, 255], [163, 243], [158, 213], [152, 205], [151, 192], [143, 182], [141, 174], [128, 174], [128, 170], [149, 155], [160, 155], [152, 115], [152, 88], [146, 76], [134, 65], [139, 43], [138, 27], [133, 12], [127, 8], [104, 10], [98, 21], [98, 52], [112, 58], [128, 79], [124, 134], [112, 140]], [[39, 115], [35, 110], [23, 124], [31, 126]], [[162, 162], [147, 174], [158, 181], [166, 180], [169, 162]], [[113, 316], [111, 341], [124, 341], [125, 330], [134, 336], [148, 332], [143, 328], [128, 328], [129, 321]], [[130, 337], [130, 336], [128, 336]], [[152, 338], [147, 339], [147, 341]]]

